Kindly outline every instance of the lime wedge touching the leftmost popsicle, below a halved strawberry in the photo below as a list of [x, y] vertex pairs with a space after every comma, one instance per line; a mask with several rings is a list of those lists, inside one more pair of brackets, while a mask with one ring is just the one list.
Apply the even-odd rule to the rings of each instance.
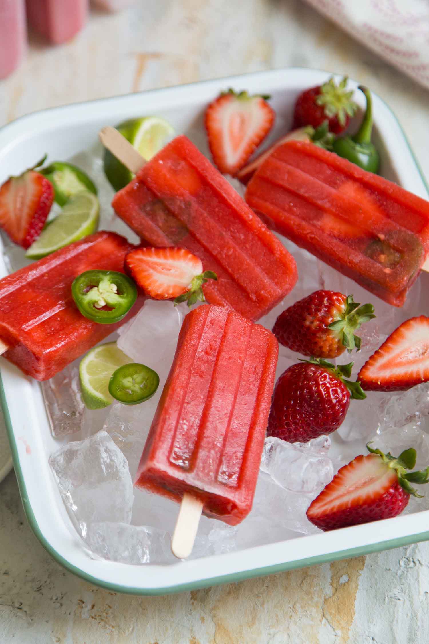
[[88, 192], [75, 194], [61, 213], [32, 243], [26, 252], [26, 257], [30, 260], [39, 260], [96, 231], [98, 210], [98, 199], [95, 194]]

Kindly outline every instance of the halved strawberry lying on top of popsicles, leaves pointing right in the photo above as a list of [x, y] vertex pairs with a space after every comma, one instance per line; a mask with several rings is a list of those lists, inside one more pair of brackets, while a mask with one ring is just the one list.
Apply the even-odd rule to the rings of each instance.
[[188, 301], [188, 306], [205, 301], [203, 284], [217, 279], [212, 270], [203, 272], [203, 263], [184, 248], [138, 248], [125, 257], [132, 279], [153, 299]]

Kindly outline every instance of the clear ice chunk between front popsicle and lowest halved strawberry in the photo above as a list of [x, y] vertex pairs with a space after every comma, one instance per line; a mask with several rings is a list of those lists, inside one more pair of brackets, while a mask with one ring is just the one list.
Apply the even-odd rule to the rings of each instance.
[[329, 483], [334, 475], [327, 453], [329, 436], [307, 443], [289, 443], [272, 436], [265, 439], [260, 469], [274, 482], [293, 492], [313, 492]]

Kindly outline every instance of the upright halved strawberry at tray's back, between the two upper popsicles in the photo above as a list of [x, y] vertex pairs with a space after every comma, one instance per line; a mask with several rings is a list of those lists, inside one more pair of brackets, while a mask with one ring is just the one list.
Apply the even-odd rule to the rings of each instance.
[[266, 99], [228, 90], [208, 106], [208, 144], [221, 172], [234, 176], [273, 127], [275, 111]]

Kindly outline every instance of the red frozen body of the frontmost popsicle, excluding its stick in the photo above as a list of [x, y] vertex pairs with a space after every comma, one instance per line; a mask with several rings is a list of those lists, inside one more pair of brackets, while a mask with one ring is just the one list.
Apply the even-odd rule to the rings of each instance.
[[232, 310], [188, 313], [136, 486], [178, 502], [190, 494], [205, 515], [241, 522], [253, 502], [277, 356], [273, 334]]

